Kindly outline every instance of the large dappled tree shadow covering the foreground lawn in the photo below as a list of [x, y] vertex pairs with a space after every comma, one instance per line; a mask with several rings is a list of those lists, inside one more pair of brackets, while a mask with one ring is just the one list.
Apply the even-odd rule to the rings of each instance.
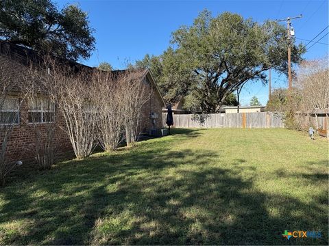
[[[144, 147], [3, 188], [0, 243], [328, 245], [328, 213], [317, 197], [304, 204], [257, 191], [239, 169], [213, 165], [217, 152]], [[284, 230], [321, 230], [323, 238], [287, 241]]]

